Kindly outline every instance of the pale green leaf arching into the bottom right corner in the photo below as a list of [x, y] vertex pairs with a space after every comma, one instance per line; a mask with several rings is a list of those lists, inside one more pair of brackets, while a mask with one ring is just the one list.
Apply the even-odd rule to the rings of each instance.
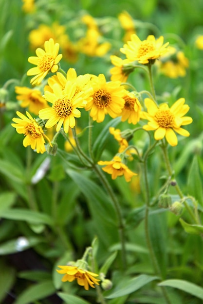
[[158, 284], [158, 286], [168, 286], [183, 290], [199, 299], [203, 300], [203, 288], [185, 280], [166, 280]]

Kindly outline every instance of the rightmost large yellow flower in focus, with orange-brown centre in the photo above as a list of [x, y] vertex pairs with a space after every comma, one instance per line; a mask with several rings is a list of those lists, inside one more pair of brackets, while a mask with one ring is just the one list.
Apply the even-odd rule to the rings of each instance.
[[185, 99], [180, 98], [170, 108], [166, 103], [158, 107], [154, 101], [146, 98], [145, 105], [148, 112], [141, 112], [141, 117], [148, 119], [149, 122], [143, 129], [147, 131], [156, 130], [154, 133], [156, 140], [166, 137], [171, 146], [176, 146], [178, 139], [175, 132], [183, 136], [189, 136], [189, 132], [181, 128], [181, 126], [192, 122], [191, 117], [184, 117], [189, 111], [189, 106], [184, 103]]

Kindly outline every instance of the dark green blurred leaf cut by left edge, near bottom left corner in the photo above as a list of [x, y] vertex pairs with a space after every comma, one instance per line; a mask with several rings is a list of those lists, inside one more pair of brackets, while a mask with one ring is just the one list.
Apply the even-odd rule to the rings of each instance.
[[15, 281], [15, 270], [0, 262], [0, 303], [12, 288]]

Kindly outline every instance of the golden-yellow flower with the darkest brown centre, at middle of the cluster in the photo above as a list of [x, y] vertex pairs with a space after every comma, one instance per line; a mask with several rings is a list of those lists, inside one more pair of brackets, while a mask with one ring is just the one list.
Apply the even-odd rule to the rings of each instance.
[[126, 90], [119, 81], [106, 82], [105, 76], [100, 74], [92, 78], [93, 95], [92, 100], [85, 106], [90, 111], [90, 116], [97, 122], [102, 122], [106, 114], [116, 118], [121, 114], [124, 107], [123, 96]]

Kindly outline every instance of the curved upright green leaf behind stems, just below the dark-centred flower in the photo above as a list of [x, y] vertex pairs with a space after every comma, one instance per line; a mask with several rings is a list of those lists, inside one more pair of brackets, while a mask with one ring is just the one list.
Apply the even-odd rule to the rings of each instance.
[[99, 160], [109, 138], [113, 138], [113, 135], [110, 134], [109, 128], [110, 127], [116, 127], [117, 124], [121, 121], [120, 117], [114, 118], [111, 121], [109, 121], [106, 126], [102, 129], [102, 131], [97, 136], [96, 140], [93, 144], [93, 155], [95, 157], [95, 160]]

